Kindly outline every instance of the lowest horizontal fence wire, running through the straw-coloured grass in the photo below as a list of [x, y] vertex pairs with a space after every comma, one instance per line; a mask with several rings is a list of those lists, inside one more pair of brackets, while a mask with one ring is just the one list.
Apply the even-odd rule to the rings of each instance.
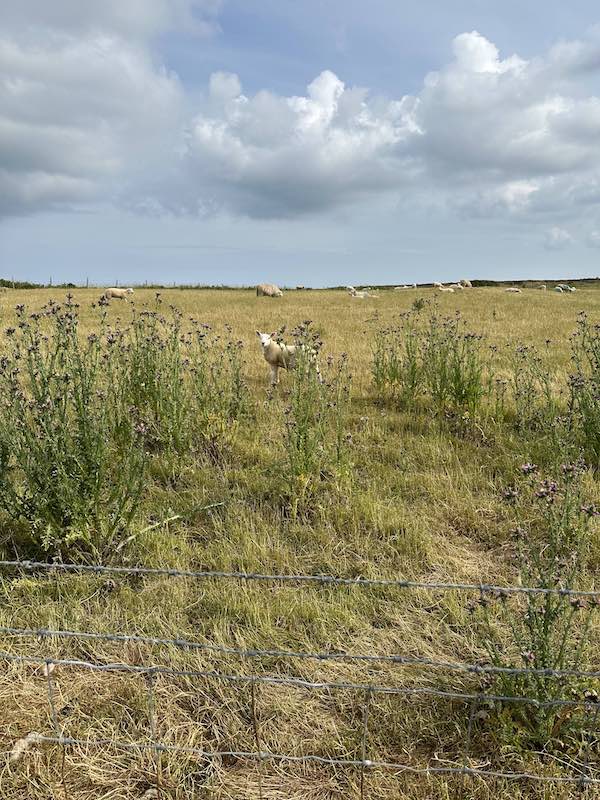
[[36, 741], [47, 742], [49, 744], [71, 745], [83, 747], [115, 747], [120, 750], [153, 750], [157, 749], [163, 753], [186, 753], [195, 755], [205, 760], [217, 758], [239, 758], [245, 760], [262, 761], [284, 761], [292, 764], [322, 764], [324, 766], [338, 767], [364, 767], [365, 769], [380, 769], [396, 773], [410, 772], [416, 775], [472, 775], [474, 777], [497, 778], [500, 780], [532, 780], [542, 783], [561, 783], [561, 784], [581, 784], [581, 785], [600, 785], [600, 778], [588, 777], [586, 775], [538, 775], [533, 772], [503, 772], [501, 770], [481, 769], [479, 767], [414, 767], [408, 764], [399, 764], [388, 761], [361, 761], [358, 759], [334, 758], [329, 756], [317, 755], [288, 755], [286, 753], [273, 753], [271, 751], [245, 751], [245, 750], [201, 750], [196, 747], [186, 747], [180, 745], [167, 745], [158, 742], [121, 742], [115, 739], [76, 739], [69, 736], [42, 736]]

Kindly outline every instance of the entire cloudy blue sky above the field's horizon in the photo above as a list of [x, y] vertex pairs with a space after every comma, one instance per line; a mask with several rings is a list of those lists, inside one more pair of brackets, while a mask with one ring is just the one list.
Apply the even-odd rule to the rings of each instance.
[[600, 275], [592, 0], [4, 0], [0, 277]]

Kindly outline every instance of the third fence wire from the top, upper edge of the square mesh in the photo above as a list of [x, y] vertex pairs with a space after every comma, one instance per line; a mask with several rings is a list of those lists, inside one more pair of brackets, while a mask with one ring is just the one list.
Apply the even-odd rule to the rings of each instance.
[[[42, 664], [45, 658], [42, 656], [23, 656], [13, 653], [0, 652], [0, 661], [15, 662], [18, 664]], [[55, 658], [53, 663], [56, 666], [80, 667], [96, 672], [127, 672], [127, 673], [147, 673], [152, 670], [156, 675], [166, 675], [174, 678], [203, 678], [226, 681], [230, 683], [255, 683], [271, 684], [277, 686], [290, 686], [298, 689], [339, 689], [347, 691], [365, 692], [369, 689], [373, 694], [383, 695], [407, 695], [407, 696], [431, 696], [445, 700], [471, 701], [479, 699], [482, 702], [498, 703], [523, 703], [533, 705], [536, 708], [586, 708], [590, 710], [600, 709], [597, 700], [556, 698], [554, 700], [538, 700], [534, 697], [524, 697], [517, 695], [502, 694], [473, 694], [469, 692], [451, 691], [448, 689], [437, 689], [429, 686], [379, 686], [377, 684], [352, 683], [349, 681], [309, 681], [304, 678], [286, 677], [283, 675], [240, 675], [217, 672], [215, 670], [190, 670], [177, 669], [175, 667], [164, 666], [137, 666], [132, 664], [97, 664], [91, 661], [81, 661], [78, 659]]]

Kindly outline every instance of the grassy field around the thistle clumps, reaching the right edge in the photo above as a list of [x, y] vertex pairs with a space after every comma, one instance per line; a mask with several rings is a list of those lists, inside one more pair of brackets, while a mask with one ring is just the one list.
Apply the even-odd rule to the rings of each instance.
[[[79, 334], [85, 340], [98, 330], [102, 309], [91, 307], [98, 290], [73, 290], [73, 296], [80, 306]], [[16, 304], [26, 304], [30, 312], [49, 298], [64, 302], [57, 290], [1, 294], [2, 328], [16, 326]], [[134, 298], [137, 313], [144, 306], [155, 307], [153, 291], [137, 290]], [[377, 392], [372, 375], [377, 331], [396, 324], [417, 298], [428, 301], [423, 318], [432, 313], [453, 317], [458, 311], [470, 331], [483, 335], [479, 346], [486, 389], [477, 407], [440, 408], [427, 397], [407, 405], [393, 393]], [[117, 526], [101, 542], [94, 539], [93, 526], [87, 538], [78, 539], [71, 529], [61, 540], [56, 530], [52, 535], [47, 528], [40, 533], [39, 520], [11, 516], [10, 508], [5, 508], [0, 529], [3, 558], [50, 560], [59, 555], [64, 560], [182, 570], [510, 585], [526, 579], [515, 528], [527, 531], [524, 546], [535, 555], [547, 546], [544, 526], [554, 524], [548, 522], [547, 510], [535, 505], [537, 501], [526, 499], [529, 478], [521, 470], [523, 464], [537, 465], [531, 480], [562, 478], [561, 465], [584, 448], [587, 463], [577, 479], [576, 500], [586, 504], [600, 500], [597, 465], [585, 450], [593, 431], [586, 429], [584, 441], [574, 417], [557, 425], [548, 416], [521, 419], [511, 395], [515, 348], [535, 346], [552, 391], [551, 411], [554, 417], [567, 415], [568, 376], [574, 371], [570, 337], [579, 312], [585, 311], [591, 322], [600, 321], [600, 291], [561, 295], [524, 290], [511, 295], [481, 288], [438, 296], [426, 289], [386, 291], [377, 299], [358, 300], [338, 291], [287, 292], [281, 299], [270, 299], [250, 291], [164, 290], [160, 299], [160, 313], [166, 317], [170, 304], [182, 312], [184, 329], [194, 327], [190, 318], [211, 326], [221, 337], [213, 350], [223, 349], [225, 340], [242, 343], [247, 392], [243, 413], [229, 419], [214, 400], [216, 405], [203, 417], [204, 438], [197, 438], [194, 427], [183, 445], [150, 448], [131, 521]], [[105, 324], [122, 330], [131, 311], [131, 304], [113, 301]], [[340, 401], [336, 406], [333, 395], [329, 401], [326, 397], [331, 413], [323, 425], [329, 427], [318, 434], [330, 437], [330, 443], [335, 425], [343, 425], [343, 458], [323, 467], [317, 441], [314, 458], [321, 466], [312, 476], [290, 469], [286, 445], [290, 436], [286, 426], [290, 415], [303, 411], [299, 393], [310, 376], [283, 372], [279, 387], [271, 393], [269, 370], [255, 334], [257, 329], [270, 332], [286, 326], [284, 339], [291, 341], [290, 331], [306, 320], [312, 321], [323, 342], [320, 361], [327, 387], [333, 385], [330, 377], [337, 374], [336, 364], [344, 353], [351, 375], [349, 403]], [[42, 331], [51, 324], [51, 316], [43, 318]], [[8, 349], [11, 336], [4, 335], [3, 346]], [[118, 373], [111, 380], [118, 382]], [[498, 393], [503, 390], [498, 387], [504, 385], [500, 414]], [[334, 391], [327, 387], [325, 391]], [[538, 394], [543, 394], [541, 389]], [[543, 403], [543, 397], [536, 395], [537, 400]], [[109, 407], [109, 415], [111, 411]], [[110, 427], [110, 420], [103, 424]], [[10, 453], [3, 459], [9, 457]], [[519, 494], [512, 501], [506, 492], [515, 486]], [[562, 525], [561, 531], [569, 528], [577, 533], [579, 522], [571, 518], [565, 522], [570, 513], [561, 511], [556, 524]], [[594, 519], [586, 527], [586, 537], [576, 572], [569, 573], [580, 588], [597, 582], [600, 542]], [[577, 549], [575, 543], [572, 550]], [[563, 565], [557, 567], [557, 575], [559, 567]], [[7, 571], [1, 597], [0, 624], [16, 628], [131, 633], [251, 649], [401, 653], [449, 662], [488, 662], [485, 632], [491, 629], [505, 651], [498, 659], [522, 664], [519, 651], [524, 640], [514, 630], [515, 625], [519, 631], [527, 627], [522, 602], [509, 610], [494, 607], [493, 618], [486, 622], [480, 608], [472, 613], [470, 603], [478, 599], [477, 593], [458, 591]], [[487, 609], [483, 612], [489, 617]], [[564, 630], [569, 637], [565, 633], [563, 649], [578, 651], [582, 628], [588, 642], [568, 663], [598, 669], [598, 620], [590, 615], [588, 627], [587, 622], [578, 622], [574, 609], [560, 613], [563, 621], [567, 619]], [[241, 658], [145, 643], [5, 636], [0, 649], [98, 664], [167, 665], [309, 681], [457, 692], [502, 688], [476, 674], [417, 666]], [[55, 731], [42, 667], [43, 663], [3, 664], [0, 738], [5, 753], [32, 731], [48, 736]], [[366, 757], [372, 761], [416, 768], [460, 767], [468, 738], [466, 763], [473, 767], [565, 776], [576, 774], [577, 765], [586, 761], [598, 766], [598, 739], [590, 722], [593, 717], [595, 724], [595, 715], [589, 710], [583, 721], [575, 719], [575, 712], [553, 717], [553, 730], [544, 739], [539, 728], [532, 733], [510, 709], [483, 703], [473, 715], [469, 703], [443, 697], [374, 695], [363, 743], [365, 694], [348, 689], [260, 684], [253, 697], [248, 683], [159, 675], [152, 679], [149, 702], [144, 674], [67, 666], [54, 670], [51, 688], [56, 695], [56, 722], [64, 736], [74, 738], [132, 744], [155, 738], [174, 747], [255, 751], [258, 726], [263, 750], [291, 755], [361, 759], [365, 744]], [[518, 686], [513, 690], [524, 691]], [[598, 686], [590, 681], [564, 682], [556, 696], [584, 697], [595, 690]], [[259, 770], [241, 758], [157, 756], [109, 744], [60, 748], [38, 743], [6, 764], [0, 772], [0, 795], [15, 800], [361, 796], [360, 772], [352, 767], [282, 761], [266, 762]], [[587, 797], [600, 796], [593, 787], [583, 791]], [[508, 800], [581, 795], [578, 787], [561, 784], [373, 770], [365, 776], [363, 796]]]

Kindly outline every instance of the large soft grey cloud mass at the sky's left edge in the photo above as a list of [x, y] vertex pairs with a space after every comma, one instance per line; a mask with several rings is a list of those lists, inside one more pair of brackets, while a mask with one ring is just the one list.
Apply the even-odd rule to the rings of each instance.
[[174, 158], [182, 90], [115, 35], [0, 39], [0, 215], [110, 200]]

